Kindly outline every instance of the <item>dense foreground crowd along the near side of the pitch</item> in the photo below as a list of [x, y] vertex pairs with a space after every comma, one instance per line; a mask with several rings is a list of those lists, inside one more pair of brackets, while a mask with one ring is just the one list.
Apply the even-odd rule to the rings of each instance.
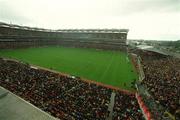
[[[0, 86], [49, 114], [67, 120], [104, 120], [114, 90], [28, 64], [0, 59]], [[134, 95], [116, 90], [114, 119], [143, 117]]]

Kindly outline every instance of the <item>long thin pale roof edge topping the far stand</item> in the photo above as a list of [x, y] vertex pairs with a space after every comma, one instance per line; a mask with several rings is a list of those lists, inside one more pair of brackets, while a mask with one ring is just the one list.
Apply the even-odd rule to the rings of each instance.
[[37, 27], [28, 27], [28, 26], [20, 26], [15, 24], [7, 24], [0, 22], [0, 27], [9, 27], [15, 29], [23, 29], [23, 30], [34, 30], [34, 31], [44, 31], [44, 32], [63, 32], [63, 33], [128, 33], [128, 29], [44, 29]]

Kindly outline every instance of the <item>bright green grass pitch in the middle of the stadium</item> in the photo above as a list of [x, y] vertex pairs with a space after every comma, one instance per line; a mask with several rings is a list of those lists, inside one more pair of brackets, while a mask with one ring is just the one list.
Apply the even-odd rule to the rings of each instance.
[[132, 90], [131, 82], [137, 78], [127, 54], [118, 51], [42, 47], [0, 50], [0, 56], [128, 90]]

